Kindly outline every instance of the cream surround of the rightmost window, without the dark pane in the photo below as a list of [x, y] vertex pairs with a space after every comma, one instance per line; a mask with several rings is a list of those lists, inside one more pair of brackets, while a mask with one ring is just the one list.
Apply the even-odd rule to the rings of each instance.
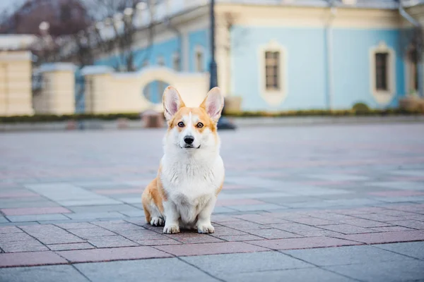
[[[377, 90], [375, 55], [387, 53], [387, 90]], [[389, 104], [396, 94], [396, 53], [385, 42], [379, 42], [377, 47], [370, 49], [370, 91], [378, 104]]]

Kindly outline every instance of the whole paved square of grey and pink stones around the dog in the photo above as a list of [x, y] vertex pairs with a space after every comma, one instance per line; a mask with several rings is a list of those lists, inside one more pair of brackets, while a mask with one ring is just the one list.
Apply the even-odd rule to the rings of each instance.
[[0, 281], [424, 281], [424, 125], [221, 133], [213, 235], [144, 221], [163, 133], [0, 135]]

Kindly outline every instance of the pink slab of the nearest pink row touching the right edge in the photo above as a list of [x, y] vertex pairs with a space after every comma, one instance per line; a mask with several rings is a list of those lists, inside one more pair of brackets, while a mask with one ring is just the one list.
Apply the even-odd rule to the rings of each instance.
[[382, 233], [368, 233], [368, 234], [352, 234], [352, 235], [338, 235], [337, 238], [353, 240], [366, 244], [381, 244], [381, 243], [397, 243], [397, 242], [411, 242], [423, 241], [424, 231], [397, 231], [397, 232], [382, 232]]

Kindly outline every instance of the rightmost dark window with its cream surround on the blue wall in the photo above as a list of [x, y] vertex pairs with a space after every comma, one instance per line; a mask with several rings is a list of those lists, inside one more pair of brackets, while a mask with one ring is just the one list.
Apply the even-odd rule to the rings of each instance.
[[378, 104], [389, 104], [396, 94], [395, 65], [394, 50], [384, 42], [370, 49], [370, 90]]

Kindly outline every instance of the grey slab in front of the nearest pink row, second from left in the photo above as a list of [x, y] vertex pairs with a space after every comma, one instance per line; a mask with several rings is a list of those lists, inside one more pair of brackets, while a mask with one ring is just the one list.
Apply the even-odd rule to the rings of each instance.
[[218, 281], [176, 258], [75, 264], [92, 282]]

